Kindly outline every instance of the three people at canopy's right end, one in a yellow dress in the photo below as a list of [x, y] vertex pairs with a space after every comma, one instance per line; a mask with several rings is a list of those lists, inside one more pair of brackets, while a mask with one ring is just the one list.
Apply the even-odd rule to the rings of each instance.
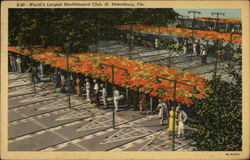
[[[178, 105], [176, 108], [171, 105], [170, 102], [163, 102], [159, 99], [159, 104], [155, 111], [159, 110], [158, 118], [160, 119], [160, 124], [164, 125], [164, 121], [167, 120], [168, 131], [170, 135], [177, 130], [177, 137], [184, 135], [185, 122], [187, 121], [187, 114]], [[174, 113], [175, 112], [175, 113]], [[175, 114], [175, 115], [174, 115]], [[175, 129], [174, 129], [175, 121]]]

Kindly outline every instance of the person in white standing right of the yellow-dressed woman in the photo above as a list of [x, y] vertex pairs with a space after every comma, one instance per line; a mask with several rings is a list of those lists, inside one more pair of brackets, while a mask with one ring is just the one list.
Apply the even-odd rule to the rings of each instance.
[[183, 110], [180, 110], [180, 107], [178, 106], [176, 108], [178, 113], [178, 133], [177, 137], [180, 137], [181, 135], [184, 135], [184, 128], [185, 128], [185, 122], [187, 121], [187, 114]]

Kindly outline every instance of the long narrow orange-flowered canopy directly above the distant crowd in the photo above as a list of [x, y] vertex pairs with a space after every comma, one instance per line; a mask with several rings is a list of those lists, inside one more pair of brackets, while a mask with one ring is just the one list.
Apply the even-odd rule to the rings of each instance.
[[224, 42], [232, 42], [234, 44], [241, 44], [241, 35], [233, 34], [232, 40], [230, 33], [219, 33], [216, 31], [192, 30], [187, 28], [164, 27], [164, 26], [146, 26], [146, 25], [120, 25], [116, 28], [135, 30], [139, 32], [161, 33], [172, 36], [204, 38], [210, 40], [220, 40]]

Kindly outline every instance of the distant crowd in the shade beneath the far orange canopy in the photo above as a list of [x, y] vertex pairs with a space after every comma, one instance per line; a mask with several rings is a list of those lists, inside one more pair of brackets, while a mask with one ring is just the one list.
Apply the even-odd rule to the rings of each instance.
[[154, 34], [147, 35], [139, 32], [119, 32], [119, 34], [121, 40], [129, 44], [131, 49], [135, 45], [141, 45], [144, 48], [166, 49], [180, 55], [200, 57], [202, 66], [209, 65], [207, 61], [208, 57], [216, 57], [221, 61], [225, 61], [232, 58], [234, 52], [241, 53], [241, 45], [223, 42], [222, 39], [208, 41], [192, 37], [171, 38]]

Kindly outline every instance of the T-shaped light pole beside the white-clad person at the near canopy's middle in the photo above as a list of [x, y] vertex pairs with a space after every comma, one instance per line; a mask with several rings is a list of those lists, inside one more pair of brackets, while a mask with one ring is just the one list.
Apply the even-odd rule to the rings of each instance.
[[113, 107], [112, 107], [112, 117], [113, 117], [113, 120], [112, 120], [112, 125], [113, 125], [113, 128], [115, 129], [115, 104], [114, 104], [114, 81], [115, 81], [115, 75], [114, 75], [114, 69], [120, 69], [120, 70], [124, 70], [125, 73], [124, 75], [127, 75], [128, 74], [128, 70], [125, 69], [125, 68], [121, 68], [121, 67], [118, 67], [118, 66], [115, 66], [115, 65], [109, 65], [109, 64], [105, 64], [105, 63], [100, 63], [98, 65], [98, 69], [102, 69], [103, 66], [107, 66], [107, 67], [110, 67], [111, 69], [111, 82], [112, 82], [112, 97], [113, 97]]

